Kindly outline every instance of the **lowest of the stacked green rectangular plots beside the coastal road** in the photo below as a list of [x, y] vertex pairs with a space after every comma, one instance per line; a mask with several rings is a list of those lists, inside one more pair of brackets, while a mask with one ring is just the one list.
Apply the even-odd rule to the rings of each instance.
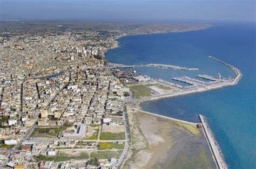
[[92, 152], [91, 158], [97, 158], [97, 159], [110, 159], [110, 158], [119, 158], [122, 154], [123, 150], [119, 151], [98, 151], [98, 152]]

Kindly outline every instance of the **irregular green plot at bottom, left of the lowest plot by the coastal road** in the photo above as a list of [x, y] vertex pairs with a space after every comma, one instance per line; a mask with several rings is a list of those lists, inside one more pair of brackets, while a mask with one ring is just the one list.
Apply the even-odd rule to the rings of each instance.
[[57, 161], [84, 160], [84, 159], [89, 159], [88, 153], [80, 153], [77, 156], [71, 156], [70, 154], [67, 154], [64, 152], [58, 152], [54, 161], [57, 162]]

